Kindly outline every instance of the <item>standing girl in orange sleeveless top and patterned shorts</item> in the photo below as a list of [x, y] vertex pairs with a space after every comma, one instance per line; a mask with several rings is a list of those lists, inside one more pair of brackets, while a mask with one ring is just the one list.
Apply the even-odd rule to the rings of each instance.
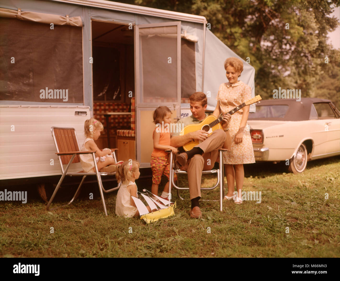
[[[153, 131], [153, 152], [151, 154], [151, 170], [152, 170], [152, 187], [151, 192], [154, 195], [158, 195], [158, 185], [162, 174], [168, 178], [168, 182], [164, 187], [164, 191], [160, 197], [168, 199], [169, 192], [169, 173], [170, 173], [170, 163], [169, 163], [169, 153], [165, 150], [171, 150], [176, 153], [177, 148], [170, 145], [170, 132], [162, 132], [162, 128], [165, 126], [159, 126], [162, 124], [171, 123], [171, 110], [166, 106], [159, 106], [153, 112], [153, 122], [157, 125]], [[177, 180], [177, 175], [174, 175], [174, 180]], [[152, 196], [154, 200], [156, 197]]]

